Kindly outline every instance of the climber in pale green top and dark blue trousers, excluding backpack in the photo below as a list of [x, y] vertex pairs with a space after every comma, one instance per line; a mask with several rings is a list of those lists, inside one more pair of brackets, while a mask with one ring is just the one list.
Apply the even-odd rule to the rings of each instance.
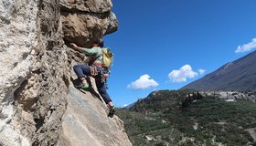
[[89, 84], [86, 80], [87, 76], [91, 76], [95, 78], [96, 86], [101, 94], [102, 99], [104, 99], [105, 103], [108, 105], [109, 114], [108, 116], [112, 117], [115, 113], [115, 107], [112, 103], [112, 99], [107, 92], [107, 88], [105, 86], [104, 78], [102, 76], [102, 47], [104, 46], [104, 41], [102, 39], [97, 39], [91, 45], [91, 48], [78, 47], [74, 43], [70, 43], [72, 48], [76, 51], [84, 53], [85, 55], [90, 57], [89, 65], [76, 65], [73, 67], [76, 75], [80, 79], [81, 83], [76, 88], [79, 89], [88, 89]]

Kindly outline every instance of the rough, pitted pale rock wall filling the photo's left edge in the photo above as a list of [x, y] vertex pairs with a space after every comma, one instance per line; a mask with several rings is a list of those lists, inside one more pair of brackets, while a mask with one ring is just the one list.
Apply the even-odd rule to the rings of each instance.
[[54, 145], [69, 91], [59, 1], [0, 5], [0, 145]]

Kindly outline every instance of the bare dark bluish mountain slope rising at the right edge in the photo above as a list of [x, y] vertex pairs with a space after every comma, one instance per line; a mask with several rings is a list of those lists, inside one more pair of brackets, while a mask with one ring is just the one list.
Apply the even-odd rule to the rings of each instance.
[[199, 90], [255, 90], [256, 51], [230, 62], [204, 78], [181, 89]]

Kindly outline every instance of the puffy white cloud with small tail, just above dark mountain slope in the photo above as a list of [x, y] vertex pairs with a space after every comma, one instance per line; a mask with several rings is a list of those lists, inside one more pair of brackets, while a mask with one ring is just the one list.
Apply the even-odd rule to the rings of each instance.
[[204, 69], [198, 69], [198, 72], [193, 71], [190, 65], [185, 65], [178, 70], [173, 70], [169, 73], [168, 77], [171, 81], [179, 83], [186, 82], [187, 78], [195, 78], [198, 75], [205, 73]]

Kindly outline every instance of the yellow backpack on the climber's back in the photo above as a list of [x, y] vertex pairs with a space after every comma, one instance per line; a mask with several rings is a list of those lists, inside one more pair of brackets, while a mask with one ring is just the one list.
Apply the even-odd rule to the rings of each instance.
[[110, 47], [102, 48], [102, 67], [110, 70], [112, 66], [112, 57], [113, 54], [111, 52]]

